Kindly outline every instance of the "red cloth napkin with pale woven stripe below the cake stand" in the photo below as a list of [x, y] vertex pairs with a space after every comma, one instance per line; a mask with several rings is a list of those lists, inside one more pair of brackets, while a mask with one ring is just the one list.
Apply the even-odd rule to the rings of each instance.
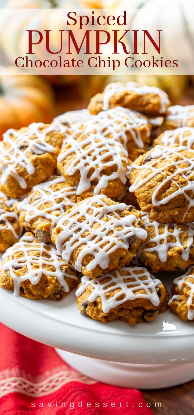
[[153, 415], [140, 391], [95, 382], [52, 347], [0, 324], [0, 415], [70, 414]]

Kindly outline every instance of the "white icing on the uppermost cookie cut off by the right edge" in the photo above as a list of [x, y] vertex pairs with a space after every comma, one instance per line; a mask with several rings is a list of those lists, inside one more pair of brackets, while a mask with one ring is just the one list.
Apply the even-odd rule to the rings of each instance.
[[168, 108], [166, 120], [177, 121], [178, 127], [185, 127], [190, 118], [194, 118], [194, 105], [173, 105]]

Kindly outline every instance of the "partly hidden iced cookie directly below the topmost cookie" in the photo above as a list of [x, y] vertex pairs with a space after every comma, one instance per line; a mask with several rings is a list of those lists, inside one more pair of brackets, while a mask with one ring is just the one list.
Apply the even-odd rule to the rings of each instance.
[[93, 115], [92, 120], [81, 128], [86, 135], [94, 133], [120, 142], [133, 161], [147, 150], [150, 143], [149, 127], [148, 118], [139, 112], [115, 107]]

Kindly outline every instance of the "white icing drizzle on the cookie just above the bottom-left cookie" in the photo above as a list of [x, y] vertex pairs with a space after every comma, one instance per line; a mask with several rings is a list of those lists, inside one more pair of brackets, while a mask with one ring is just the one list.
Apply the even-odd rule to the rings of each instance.
[[[73, 207], [73, 203], [69, 198], [76, 195], [76, 190], [73, 187], [64, 187], [60, 190], [56, 190], [55, 185], [59, 183], [66, 183], [62, 176], [53, 177], [33, 187], [30, 195], [18, 203], [17, 209], [19, 212], [25, 210], [25, 221], [29, 222], [36, 217], [45, 217], [51, 221], [49, 227], [50, 233], [52, 229], [56, 227], [59, 219], [65, 214], [65, 207]], [[51, 188], [53, 186], [53, 188]], [[35, 195], [38, 192], [39, 195]], [[35, 200], [32, 202], [32, 198]], [[44, 210], [42, 205], [47, 205]]]

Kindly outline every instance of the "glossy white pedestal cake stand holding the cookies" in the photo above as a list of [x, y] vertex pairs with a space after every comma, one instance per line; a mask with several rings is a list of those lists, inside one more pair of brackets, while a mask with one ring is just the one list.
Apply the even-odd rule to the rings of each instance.
[[[175, 277], [164, 275], [170, 290]], [[0, 321], [55, 347], [70, 366], [97, 381], [153, 389], [194, 378], [194, 322], [182, 322], [170, 310], [134, 327], [104, 324], [80, 315], [75, 291], [54, 302], [15, 297], [0, 288]]]

